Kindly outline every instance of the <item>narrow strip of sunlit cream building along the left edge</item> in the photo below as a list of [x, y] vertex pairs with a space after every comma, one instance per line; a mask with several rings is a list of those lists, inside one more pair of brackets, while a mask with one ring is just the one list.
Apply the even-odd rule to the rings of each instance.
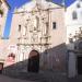
[[0, 0], [0, 59], [3, 59], [3, 31], [7, 21], [8, 10], [10, 9], [8, 2], [5, 0]]

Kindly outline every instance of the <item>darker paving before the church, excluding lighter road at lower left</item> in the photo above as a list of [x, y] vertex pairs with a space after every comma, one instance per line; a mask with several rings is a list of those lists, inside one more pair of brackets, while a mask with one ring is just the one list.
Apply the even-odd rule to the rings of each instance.
[[26, 70], [20, 72], [17, 71], [19, 70], [9, 70], [4, 75], [8, 75], [12, 79], [24, 80], [26, 82], [82, 82], [82, 75], [69, 79], [67, 73], [52, 70], [39, 71], [39, 73], [30, 73], [26, 72]]

